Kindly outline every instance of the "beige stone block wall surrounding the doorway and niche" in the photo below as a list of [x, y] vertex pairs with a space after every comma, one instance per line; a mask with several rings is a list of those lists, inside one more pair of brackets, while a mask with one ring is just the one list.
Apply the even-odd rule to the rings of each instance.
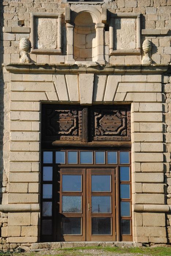
[[110, 56], [108, 25], [104, 33], [105, 60], [122, 67], [112, 66], [111, 73], [107, 66], [102, 72], [102, 67], [97, 71], [96, 67], [82, 65], [73, 71], [72, 65], [64, 65], [64, 69], [55, 65], [66, 62], [64, 12], [68, 5], [60, 0], [0, 2], [1, 63], [20, 62], [19, 40], [30, 38], [30, 12], [63, 14], [64, 35], [61, 55], [30, 53], [31, 63], [42, 63], [37, 69], [28, 64], [18, 65], [18, 72], [8, 66], [1, 70], [0, 249], [31, 246], [39, 241], [43, 102], [131, 104], [133, 241], [170, 243], [171, 78], [161, 74], [164, 64], [171, 61], [171, 1], [102, 3], [112, 13], [140, 13], [141, 41], [152, 41], [153, 64], [163, 64], [146, 71], [143, 66], [133, 66], [128, 73], [129, 65], [141, 64], [141, 55]]

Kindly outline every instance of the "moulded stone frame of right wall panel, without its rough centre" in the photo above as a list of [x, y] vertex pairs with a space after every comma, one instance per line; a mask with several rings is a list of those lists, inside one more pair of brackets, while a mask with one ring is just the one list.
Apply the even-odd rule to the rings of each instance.
[[[118, 18], [136, 18], [136, 49], [122, 50], [114, 49], [114, 26], [115, 19]], [[109, 55], [141, 55], [141, 29], [140, 29], [140, 14], [139, 13], [117, 13], [110, 14], [110, 25], [109, 25]]]

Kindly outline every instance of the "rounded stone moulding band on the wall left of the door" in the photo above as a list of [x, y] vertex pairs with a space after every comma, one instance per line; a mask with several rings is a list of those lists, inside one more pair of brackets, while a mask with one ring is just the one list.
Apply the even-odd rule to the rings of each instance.
[[40, 204], [1, 204], [1, 212], [40, 211]]

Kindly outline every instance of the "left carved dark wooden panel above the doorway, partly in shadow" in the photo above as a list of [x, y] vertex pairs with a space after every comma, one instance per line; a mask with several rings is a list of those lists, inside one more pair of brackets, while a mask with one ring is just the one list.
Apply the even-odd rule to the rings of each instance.
[[82, 111], [79, 107], [43, 106], [43, 140], [81, 140]]

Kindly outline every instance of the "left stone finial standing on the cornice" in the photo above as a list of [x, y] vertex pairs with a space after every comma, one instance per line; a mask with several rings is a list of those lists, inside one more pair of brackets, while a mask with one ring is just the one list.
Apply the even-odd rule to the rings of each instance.
[[30, 49], [30, 41], [23, 37], [20, 39], [20, 63], [30, 63], [28, 51]]

